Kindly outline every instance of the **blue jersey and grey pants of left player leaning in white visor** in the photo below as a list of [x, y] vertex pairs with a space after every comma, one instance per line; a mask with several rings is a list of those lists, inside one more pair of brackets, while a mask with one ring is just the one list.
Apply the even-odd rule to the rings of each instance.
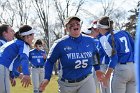
[[17, 68], [22, 64], [24, 75], [29, 75], [28, 56], [30, 47], [22, 40], [13, 40], [0, 47], [0, 93], [10, 93], [9, 73], [14, 71], [19, 76]]

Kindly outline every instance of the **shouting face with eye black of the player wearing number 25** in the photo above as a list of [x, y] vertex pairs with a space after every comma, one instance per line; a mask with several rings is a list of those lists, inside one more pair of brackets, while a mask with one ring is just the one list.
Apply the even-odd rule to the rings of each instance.
[[78, 20], [73, 19], [66, 26], [66, 31], [68, 31], [69, 35], [72, 37], [78, 37], [81, 33], [80, 30], [81, 30], [81, 25], [80, 25], [80, 21]]

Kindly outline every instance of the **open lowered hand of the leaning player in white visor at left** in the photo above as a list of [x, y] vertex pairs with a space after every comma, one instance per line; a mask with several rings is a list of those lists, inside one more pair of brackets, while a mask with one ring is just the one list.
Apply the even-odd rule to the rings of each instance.
[[23, 75], [23, 78], [21, 79], [21, 83], [23, 87], [28, 87], [31, 85], [31, 78], [29, 75]]

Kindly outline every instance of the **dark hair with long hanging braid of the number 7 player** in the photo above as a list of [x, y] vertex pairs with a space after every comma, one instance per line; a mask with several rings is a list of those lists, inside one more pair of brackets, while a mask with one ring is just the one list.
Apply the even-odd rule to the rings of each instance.
[[109, 17], [105, 16], [105, 17], [102, 17], [100, 20], [99, 20], [99, 23], [101, 25], [106, 25], [106, 26], [109, 26], [109, 28], [107, 28], [106, 30], [108, 30], [110, 33], [111, 33], [111, 40], [112, 40], [112, 56], [114, 54], [116, 54], [116, 51], [115, 51], [115, 40], [114, 40], [114, 33], [113, 33], [113, 21], [110, 20]]

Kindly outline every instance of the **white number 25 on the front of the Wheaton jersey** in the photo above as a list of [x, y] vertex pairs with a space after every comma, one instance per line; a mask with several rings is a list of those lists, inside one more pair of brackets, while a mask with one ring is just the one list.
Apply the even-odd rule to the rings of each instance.
[[77, 60], [75, 61], [75, 69], [78, 69], [78, 68], [86, 68], [87, 67], [87, 62], [88, 62], [88, 59], [84, 59], [84, 60]]

